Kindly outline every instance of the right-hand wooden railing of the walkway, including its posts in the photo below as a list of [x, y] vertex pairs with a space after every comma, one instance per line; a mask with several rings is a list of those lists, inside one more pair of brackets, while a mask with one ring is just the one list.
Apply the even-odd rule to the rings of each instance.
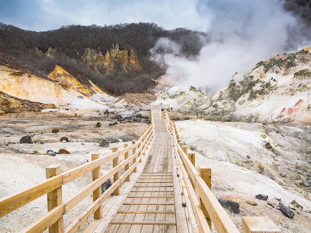
[[[211, 232], [213, 223], [218, 233], [238, 233], [233, 221], [211, 191], [211, 169], [199, 166], [199, 171], [196, 170], [195, 154], [188, 153], [187, 146], [180, 142], [175, 123], [169, 119], [167, 111], [162, 112], [162, 117], [166, 119], [173, 136], [176, 172], [184, 181], [183, 204], [192, 207], [199, 232]], [[281, 231], [268, 217], [242, 217], [242, 233], [266, 232]]]

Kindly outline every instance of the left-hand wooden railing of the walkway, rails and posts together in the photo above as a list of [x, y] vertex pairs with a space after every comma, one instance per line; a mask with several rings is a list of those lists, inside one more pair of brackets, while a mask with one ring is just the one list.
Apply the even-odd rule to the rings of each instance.
[[[48, 228], [50, 233], [77, 232], [91, 216], [94, 216], [94, 219], [102, 218], [103, 202], [112, 193], [114, 193], [114, 195], [119, 195], [121, 183], [124, 180], [129, 181], [130, 174], [132, 172], [137, 172], [138, 163], [141, 162], [141, 158], [153, 137], [153, 133], [153, 125], [151, 124], [147, 130], [139, 136], [138, 141], [132, 142], [132, 145], [128, 146], [126, 144], [126, 147], [122, 150], [113, 148], [112, 154], [103, 156], [102, 158], [100, 158], [99, 154], [92, 154], [91, 162], [64, 173], [61, 173], [60, 166], [50, 166], [46, 168], [47, 180], [25, 191], [8, 195], [0, 199], [0, 218], [47, 194], [48, 213], [34, 220], [30, 226], [26, 227], [21, 232], [43, 232]], [[129, 152], [131, 152], [130, 156]], [[120, 156], [124, 156], [124, 161], [122, 163], [119, 163]], [[101, 175], [100, 166], [109, 162], [111, 163], [111, 161], [113, 163], [113, 169]], [[122, 169], [124, 169], [125, 172], [120, 175]], [[90, 172], [92, 173], [93, 181], [80, 192], [72, 196], [69, 201], [63, 203], [62, 186]], [[114, 179], [113, 184], [101, 194], [101, 185], [112, 176]], [[91, 194], [93, 195], [93, 203], [64, 230], [63, 217]]]

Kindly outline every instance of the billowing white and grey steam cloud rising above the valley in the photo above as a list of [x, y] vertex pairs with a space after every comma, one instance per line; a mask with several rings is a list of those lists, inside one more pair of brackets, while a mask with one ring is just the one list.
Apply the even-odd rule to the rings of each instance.
[[[167, 66], [163, 78], [170, 85], [192, 85], [212, 95], [224, 88], [235, 72], [246, 72], [261, 60], [311, 46], [311, 36], [299, 35], [302, 25], [283, 9], [282, 1], [211, 0], [204, 6], [210, 19], [206, 31], [210, 42], [197, 58], [180, 57], [180, 46], [167, 38], [158, 40], [151, 50], [153, 59]], [[158, 49], [166, 53], [157, 54]]]

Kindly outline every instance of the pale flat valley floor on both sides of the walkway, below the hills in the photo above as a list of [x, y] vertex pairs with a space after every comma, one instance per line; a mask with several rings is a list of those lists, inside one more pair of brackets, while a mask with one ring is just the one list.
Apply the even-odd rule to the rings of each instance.
[[[142, 113], [149, 116], [149, 112]], [[60, 164], [62, 171], [70, 170], [91, 160], [92, 153], [101, 156], [111, 153], [112, 147], [122, 148], [137, 136], [147, 123], [118, 123], [114, 116], [90, 113], [87, 116], [63, 116], [61, 114], [20, 114], [0, 118], [0, 198], [45, 179], [45, 168]], [[100, 122], [101, 127], [95, 127]], [[176, 121], [180, 139], [188, 149], [196, 153], [196, 167], [212, 168], [212, 191], [217, 198], [227, 198], [240, 204], [240, 214], [228, 211], [236, 226], [241, 229], [242, 216], [269, 216], [284, 233], [311, 232], [311, 191], [302, 183], [310, 176], [310, 143], [299, 139], [293, 128], [243, 122], [214, 122], [203, 119]], [[59, 132], [52, 133], [53, 129]], [[276, 131], [279, 131], [278, 133]], [[32, 144], [20, 144], [19, 140], [30, 135]], [[66, 136], [70, 142], [63, 143]], [[110, 142], [100, 147], [99, 141]], [[270, 142], [272, 150], [265, 148]], [[66, 149], [70, 154], [46, 155], [47, 150], [58, 152]], [[41, 155], [34, 155], [38, 151]], [[248, 156], [248, 157], [247, 157]], [[102, 168], [102, 172], [107, 168]], [[90, 177], [83, 177], [87, 180]], [[79, 190], [83, 184], [74, 183], [64, 198]], [[267, 201], [255, 195], [265, 193]], [[285, 206], [295, 208], [293, 219], [279, 210], [281, 199]], [[296, 200], [304, 207], [294, 207]], [[46, 200], [39, 200], [45, 203]], [[37, 203], [38, 204], [38, 203]], [[14, 211], [0, 219], [0, 232], [18, 232], [33, 219], [46, 211], [34, 204]], [[29, 209], [31, 211], [29, 211]], [[26, 211], [26, 212], [25, 212]], [[26, 214], [25, 214], [26, 213]], [[19, 219], [19, 224], [16, 224]], [[65, 219], [65, 225], [70, 219]], [[66, 226], [65, 226], [66, 227]]]

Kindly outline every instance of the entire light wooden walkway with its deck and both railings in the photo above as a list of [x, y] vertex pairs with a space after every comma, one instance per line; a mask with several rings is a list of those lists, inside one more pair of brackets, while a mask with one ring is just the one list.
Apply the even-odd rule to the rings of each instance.
[[[150, 110], [152, 123], [137, 141], [113, 148], [110, 155], [92, 154], [91, 162], [64, 173], [60, 166], [48, 167], [46, 181], [0, 199], [0, 218], [46, 195], [48, 212], [21, 232], [280, 232], [266, 217], [243, 217], [239, 230], [211, 192], [211, 170], [196, 170], [195, 154], [180, 142], [161, 106]], [[112, 169], [102, 175], [106, 163]], [[90, 174], [92, 182], [64, 202], [63, 185], [84, 174]], [[102, 183], [112, 177], [112, 185], [101, 193]], [[87, 198], [91, 204], [64, 224], [64, 217]]]

